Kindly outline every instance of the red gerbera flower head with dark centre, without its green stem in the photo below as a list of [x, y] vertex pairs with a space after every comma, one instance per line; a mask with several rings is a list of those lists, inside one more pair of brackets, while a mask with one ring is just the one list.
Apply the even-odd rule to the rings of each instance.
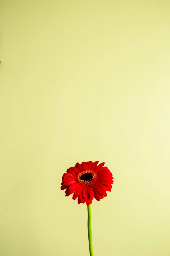
[[73, 200], [78, 200], [78, 204], [85, 203], [87, 206], [92, 203], [93, 198], [97, 201], [107, 196], [106, 191], [111, 191], [113, 176], [105, 163], [82, 162], [76, 163], [75, 167], [70, 167], [63, 174], [61, 190], [66, 189], [65, 196], [73, 194]]

